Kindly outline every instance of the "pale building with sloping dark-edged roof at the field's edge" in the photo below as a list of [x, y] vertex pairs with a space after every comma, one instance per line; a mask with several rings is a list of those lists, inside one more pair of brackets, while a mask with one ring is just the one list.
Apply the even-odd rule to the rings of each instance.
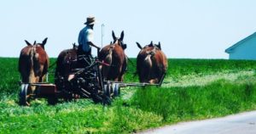
[[230, 59], [256, 60], [256, 32], [227, 48], [225, 53], [230, 54]]

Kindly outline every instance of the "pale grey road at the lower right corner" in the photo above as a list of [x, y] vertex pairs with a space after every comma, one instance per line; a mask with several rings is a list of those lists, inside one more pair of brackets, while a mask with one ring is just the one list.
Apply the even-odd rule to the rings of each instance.
[[255, 134], [256, 111], [199, 120], [143, 131], [142, 134]]

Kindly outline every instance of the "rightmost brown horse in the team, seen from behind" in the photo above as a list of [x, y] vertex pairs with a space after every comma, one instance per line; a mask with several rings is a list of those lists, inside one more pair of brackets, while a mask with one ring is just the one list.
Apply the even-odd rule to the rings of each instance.
[[159, 44], [151, 42], [145, 47], [137, 42], [141, 51], [137, 55], [137, 73], [140, 82], [159, 83], [164, 75], [168, 62], [165, 53], [161, 51]]

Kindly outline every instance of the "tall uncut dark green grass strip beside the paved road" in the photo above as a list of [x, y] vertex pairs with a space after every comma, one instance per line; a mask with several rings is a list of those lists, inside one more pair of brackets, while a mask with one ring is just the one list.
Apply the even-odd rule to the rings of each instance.
[[166, 123], [218, 117], [256, 109], [256, 84], [219, 80], [206, 86], [148, 87], [137, 90], [132, 105], [161, 115]]

